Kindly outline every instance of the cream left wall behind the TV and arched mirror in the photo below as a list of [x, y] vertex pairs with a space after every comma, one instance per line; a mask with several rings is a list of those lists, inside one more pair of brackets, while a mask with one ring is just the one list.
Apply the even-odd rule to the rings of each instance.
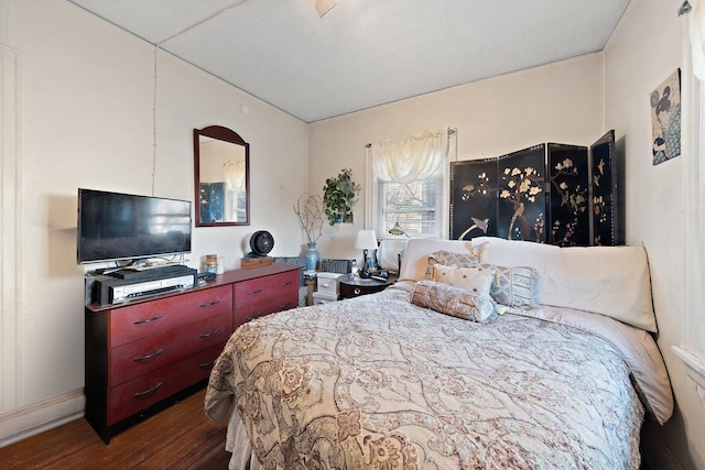
[[18, 259], [2, 263], [17, 302], [0, 304], [1, 442], [18, 409], [84, 386], [83, 274], [95, 266], [76, 264], [77, 188], [193, 200], [193, 129], [225, 125], [250, 143], [251, 226], [194, 229], [188, 264], [213, 252], [237, 267], [260, 229], [274, 236], [272, 254], [296, 255], [307, 127], [64, 0], [1, 0], [0, 23], [19, 83], [4, 97], [17, 110], [3, 114], [18, 147], [2, 153], [19, 168], [10, 182], [3, 172], [3, 189], [18, 193], [3, 204], [14, 199], [20, 223]]

